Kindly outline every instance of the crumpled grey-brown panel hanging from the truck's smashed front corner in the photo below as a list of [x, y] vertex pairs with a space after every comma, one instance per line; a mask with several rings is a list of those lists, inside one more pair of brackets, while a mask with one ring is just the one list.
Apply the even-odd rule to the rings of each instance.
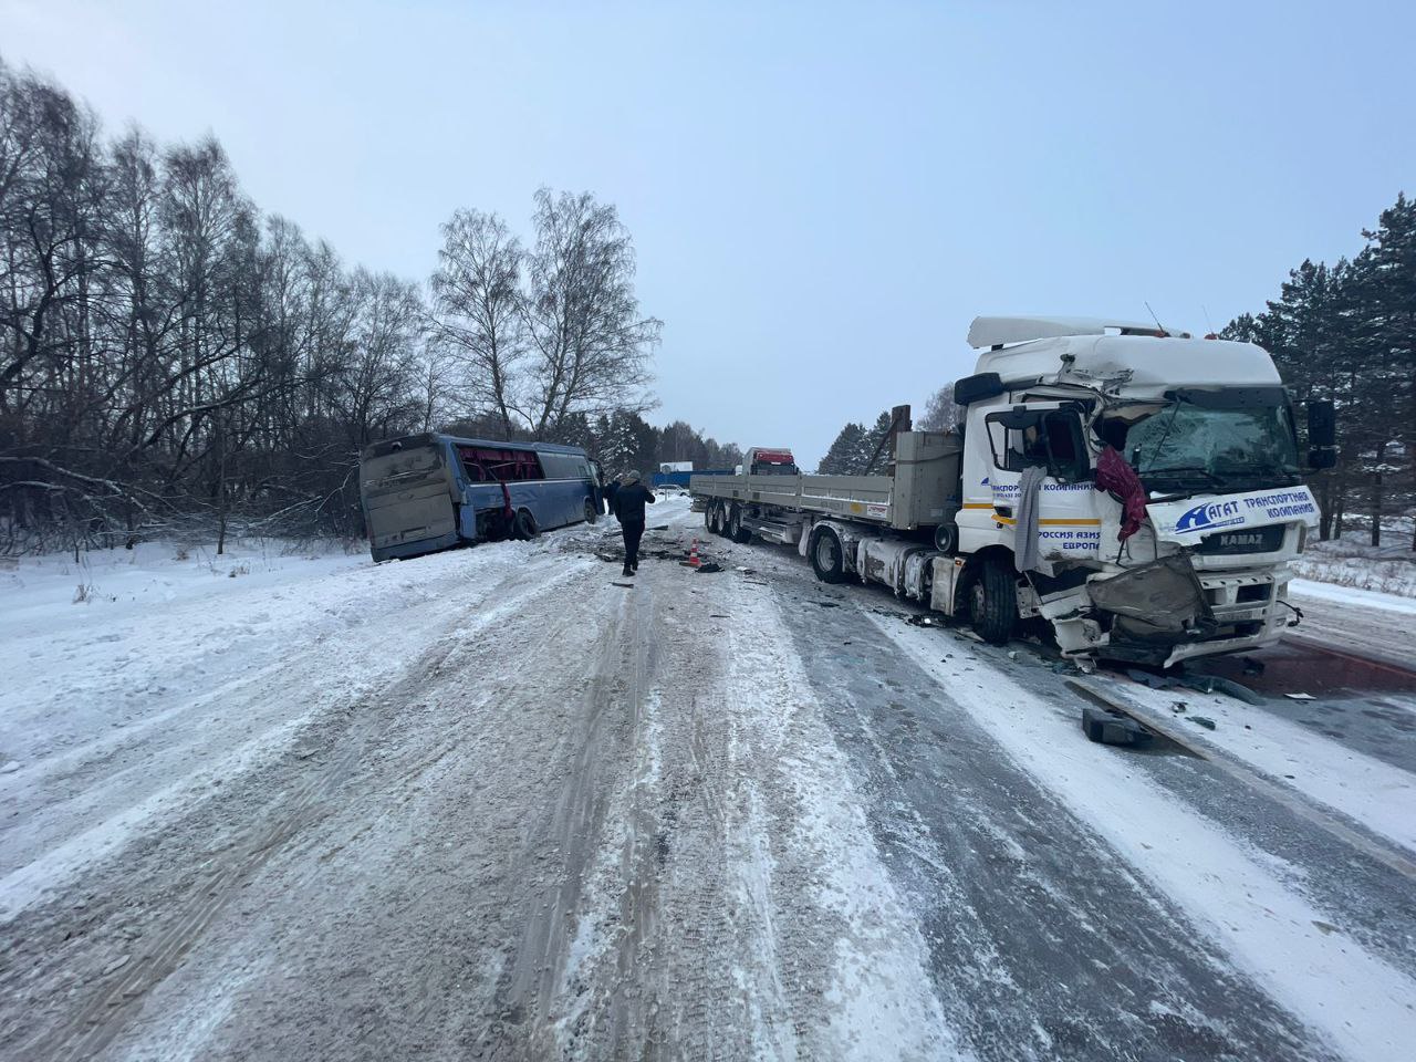
[[1205, 588], [1185, 554], [1163, 556], [1086, 585], [1092, 605], [1113, 616], [1112, 647], [1172, 646], [1215, 630]]

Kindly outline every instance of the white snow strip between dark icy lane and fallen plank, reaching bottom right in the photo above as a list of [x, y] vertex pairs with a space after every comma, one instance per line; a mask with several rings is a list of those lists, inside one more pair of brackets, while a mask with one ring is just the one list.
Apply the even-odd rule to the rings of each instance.
[[1087, 742], [1076, 722], [1079, 709], [1051, 705], [1003, 674], [978, 690], [961, 680], [956, 664], [940, 661], [939, 641], [927, 629], [871, 619], [944, 683], [1014, 762], [1342, 1055], [1393, 1062], [1409, 1056], [1416, 981], [1342, 933], [1340, 915], [1290, 891], [1252, 850], [1127, 770], [1113, 749]]

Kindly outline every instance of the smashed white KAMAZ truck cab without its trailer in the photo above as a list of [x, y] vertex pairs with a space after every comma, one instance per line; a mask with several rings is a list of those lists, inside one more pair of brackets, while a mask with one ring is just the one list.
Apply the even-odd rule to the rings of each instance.
[[[1015, 565], [1020, 615], [1049, 619], [1065, 653], [1161, 664], [1279, 636], [1296, 615], [1287, 561], [1318, 508], [1266, 351], [1079, 319], [980, 317], [969, 340], [981, 351], [956, 387], [959, 551], [1015, 564], [1024, 474], [1042, 470], [1022, 531], [1037, 535], [1035, 561]], [[1324, 466], [1331, 440], [1318, 442]], [[1123, 501], [1096, 486], [1107, 447], [1144, 490], [1129, 535]]]

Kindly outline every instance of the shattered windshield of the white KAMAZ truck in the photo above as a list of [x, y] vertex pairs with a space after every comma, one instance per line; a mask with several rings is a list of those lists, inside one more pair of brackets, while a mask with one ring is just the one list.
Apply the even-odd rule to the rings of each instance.
[[1259, 490], [1298, 481], [1286, 402], [1247, 392], [1180, 392], [1133, 421], [1124, 453], [1153, 489]]

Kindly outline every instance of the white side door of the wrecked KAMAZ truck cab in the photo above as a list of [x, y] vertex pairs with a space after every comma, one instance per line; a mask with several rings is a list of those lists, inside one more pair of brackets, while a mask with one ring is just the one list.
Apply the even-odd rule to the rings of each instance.
[[[1028, 402], [990, 412], [984, 421], [993, 455], [990, 473], [993, 521], [1000, 530], [1017, 524], [1022, 472], [1042, 467], [1038, 555], [1042, 559], [1096, 556], [1102, 520], [1092, 487], [1092, 453], [1075, 402]], [[1015, 531], [1010, 535], [1018, 549]]]

